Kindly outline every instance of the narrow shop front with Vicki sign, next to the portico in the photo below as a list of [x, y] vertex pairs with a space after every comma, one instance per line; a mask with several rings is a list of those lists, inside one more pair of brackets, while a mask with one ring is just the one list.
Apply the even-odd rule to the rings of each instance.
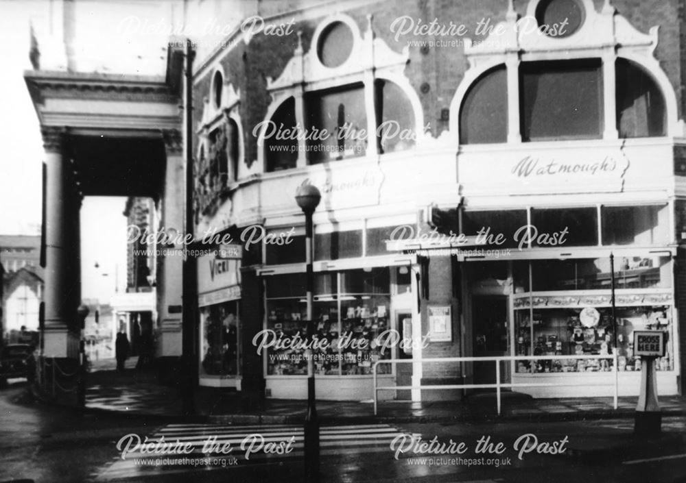
[[226, 253], [198, 258], [198, 377], [200, 386], [240, 389], [241, 260], [221, 258]]

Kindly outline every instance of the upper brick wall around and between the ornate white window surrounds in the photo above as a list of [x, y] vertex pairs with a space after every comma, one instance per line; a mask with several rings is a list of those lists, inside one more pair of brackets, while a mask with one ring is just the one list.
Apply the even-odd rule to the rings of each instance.
[[[654, 25], [659, 25], [659, 45], [655, 55], [662, 68], [670, 78], [677, 94], [678, 110], [682, 112], [682, 25], [683, 0], [615, 0], [613, 5], [617, 11], [628, 18], [628, 21], [641, 32], [648, 32]], [[525, 14], [526, 1], [515, 1], [517, 13]], [[603, 0], [595, 0], [596, 10], [602, 8]], [[280, 9], [281, 10], [281, 9]], [[361, 32], [366, 31], [366, 14], [373, 14], [375, 34], [383, 39], [394, 51], [402, 51], [410, 40], [423, 40], [412, 34], [398, 36], [391, 31], [390, 25], [401, 15], [413, 19], [421, 18], [423, 22], [430, 22], [438, 18], [441, 23], [452, 21], [464, 24], [469, 34], [464, 38], [478, 40], [474, 29], [482, 18], [492, 18], [493, 23], [505, 18], [507, 2], [504, 0], [401, 0], [374, 3], [366, 8], [348, 10], [359, 26]], [[309, 44], [317, 25], [322, 18], [296, 22], [293, 31], [303, 32], [303, 48], [308, 51]], [[428, 39], [429, 37], [426, 37]], [[458, 37], [455, 37], [458, 38]], [[246, 162], [252, 164], [257, 159], [256, 138], [252, 136], [252, 127], [263, 121], [267, 107], [271, 101], [266, 90], [266, 77], [279, 77], [283, 68], [297, 45], [296, 34], [289, 36], [265, 36], [258, 34], [249, 45], [242, 42], [230, 51], [221, 61], [224, 72], [235, 88], [241, 90], [241, 119], [244, 122], [244, 143], [246, 147]], [[198, 59], [198, 62], [204, 60]], [[198, 64], [200, 66], [200, 64]], [[410, 62], [405, 69], [405, 75], [415, 88], [421, 99], [425, 122], [430, 123], [431, 133], [436, 136], [447, 129], [447, 121], [442, 121], [440, 112], [447, 109], [455, 95], [456, 89], [464, 77], [467, 69], [464, 48], [436, 47], [421, 49], [410, 47]], [[194, 92], [196, 122], [202, 116], [202, 99], [209, 95], [212, 71], [204, 74]], [[427, 92], [421, 92], [425, 84]], [[195, 140], [197, 145], [197, 139]]]

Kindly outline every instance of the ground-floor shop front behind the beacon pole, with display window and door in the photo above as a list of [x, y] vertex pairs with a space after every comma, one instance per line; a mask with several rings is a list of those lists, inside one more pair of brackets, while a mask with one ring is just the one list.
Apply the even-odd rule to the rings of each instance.
[[[315, 226], [316, 332], [309, 348], [319, 399], [368, 400], [375, 363], [411, 354], [410, 344], [401, 342], [403, 337], [412, 340], [408, 331], [416, 312], [414, 257], [381, 255], [383, 239], [394, 226], [374, 223], [360, 221], [359, 230], [351, 225], [339, 232], [325, 224]], [[272, 264], [261, 269], [265, 321], [254, 345], [263, 357], [268, 397], [304, 399], [307, 395], [305, 273], [301, 264], [278, 263], [296, 262], [300, 253], [304, 257], [298, 240], [296, 235], [292, 247], [266, 247], [265, 256]], [[395, 385], [397, 378], [409, 384], [410, 364], [395, 365], [379, 364], [379, 385]], [[381, 393], [385, 398], [394, 396], [391, 391]]]

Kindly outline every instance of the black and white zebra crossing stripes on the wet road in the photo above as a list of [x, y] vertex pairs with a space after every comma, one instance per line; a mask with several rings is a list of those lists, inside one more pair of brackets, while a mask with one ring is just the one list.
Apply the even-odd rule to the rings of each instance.
[[[392, 458], [390, 443], [399, 434], [404, 433], [388, 424], [321, 426], [320, 457], [385, 453]], [[139, 440], [120, 440], [117, 458], [95, 480], [296, 461], [303, 459], [304, 447], [301, 425], [169, 424]]]

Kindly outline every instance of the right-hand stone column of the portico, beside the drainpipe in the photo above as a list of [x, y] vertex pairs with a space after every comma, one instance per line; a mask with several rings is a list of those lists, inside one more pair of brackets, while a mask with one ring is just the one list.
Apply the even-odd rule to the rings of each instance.
[[[162, 226], [154, 227], [154, 229], [183, 233], [185, 208], [183, 140], [181, 132], [176, 129], [165, 130], [163, 139], [167, 155], [167, 169], [165, 170], [165, 183], [162, 193]], [[160, 250], [182, 250], [184, 247], [182, 245], [174, 247], [157, 245], [156, 248]], [[159, 327], [160, 343], [157, 347], [157, 356], [180, 356], [183, 256], [179, 251], [158, 258], [161, 270], [157, 273], [157, 289], [161, 294], [158, 297], [157, 313], [161, 325]]]

